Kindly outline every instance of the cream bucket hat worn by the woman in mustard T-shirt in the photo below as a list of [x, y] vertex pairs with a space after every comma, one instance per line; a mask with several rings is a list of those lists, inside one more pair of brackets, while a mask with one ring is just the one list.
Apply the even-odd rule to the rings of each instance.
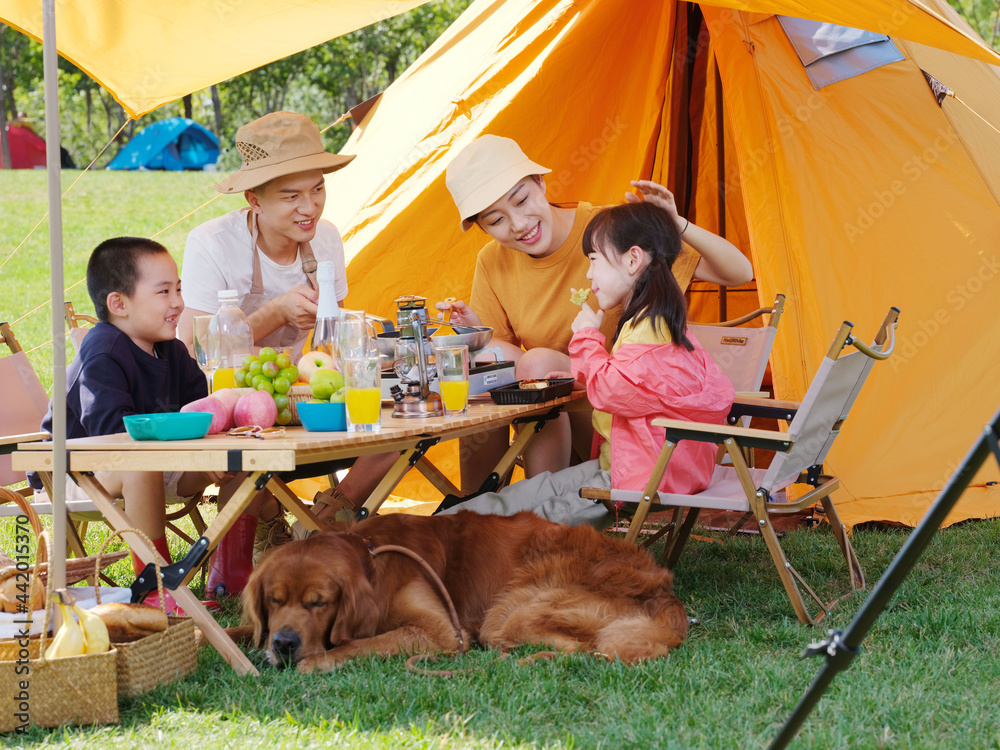
[[525, 156], [516, 141], [481, 135], [451, 160], [444, 181], [467, 232], [474, 223], [469, 217], [489, 208], [519, 180], [551, 171]]

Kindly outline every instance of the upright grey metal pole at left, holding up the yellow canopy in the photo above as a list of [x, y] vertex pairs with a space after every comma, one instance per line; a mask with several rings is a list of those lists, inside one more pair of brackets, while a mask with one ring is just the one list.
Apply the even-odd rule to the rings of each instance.
[[62, 157], [55, 0], [42, 3], [45, 166], [49, 184], [49, 295], [52, 300], [52, 588], [66, 586], [66, 338], [63, 335]]

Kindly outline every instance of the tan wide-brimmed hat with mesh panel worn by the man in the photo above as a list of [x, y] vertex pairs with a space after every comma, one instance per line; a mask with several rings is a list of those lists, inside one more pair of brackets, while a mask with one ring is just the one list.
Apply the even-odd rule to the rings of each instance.
[[319, 128], [305, 115], [272, 112], [236, 131], [236, 150], [243, 166], [215, 186], [220, 193], [241, 193], [296, 172], [335, 172], [354, 156], [331, 154]]

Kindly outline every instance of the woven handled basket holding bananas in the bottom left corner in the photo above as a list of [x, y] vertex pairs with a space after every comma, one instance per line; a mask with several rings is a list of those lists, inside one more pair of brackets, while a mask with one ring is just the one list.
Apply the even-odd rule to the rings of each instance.
[[[45, 556], [50, 546], [48, 532], [43, 531], [38, 536], [39, 556]], [[31, 577], [32, 589], [39, 585], [39, 577]], [[52, 602], [51, 578], [45, 601]], [[0, 711], [0, 733], [29, 726], [118, 723], [118, 652], [112, 648], [103, 654], [46, 659], [50, 610], [46, 606], [39, 638], [6, 641], [0, 649], [0, 696], [8, 698]]]

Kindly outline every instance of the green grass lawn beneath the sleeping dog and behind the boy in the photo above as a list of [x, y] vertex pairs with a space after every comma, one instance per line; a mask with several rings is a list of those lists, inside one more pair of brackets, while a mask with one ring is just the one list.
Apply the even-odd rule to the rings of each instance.
[[[77, 174], [64, 173], [64, 188]], [[65, 200], [67, 285], [83, 278], [88, 254], [102, 239], [155, 234], [211, 198], [215, 177], [87, 175]], [[159, 239], [180, 260], [191, 227], [237, 205], [238, 198], [221, 199]], [[43, 173], [0, 172], [0, 263], [45, 210]], [[0, 320], [16, 320], [49, 298], [45, 226], [0, 279]], [[90, 309], [82, 285], [67, 297]], [[47, 342], [49, 331], [48, 308], [15, 327], [25, 349]], [[51, 348], [30, 356], [50, 387]], [[12, 520], [0, 521], [0, 548], [12, 547], [13, 529]], [[856, 530], [869, 586], [908, 533]], [[92, 527], [88, 548], [95, 550], [105, 534]], [[173, 544], [176, 557], [183, 548], [177, 539]], [[799, 652], [827, 628], [846, 627], [864, 601], [864, 594], [849, 593], [829, 529], [791, 532], [784, 546], [821, 596], [845, 596], [819, 629], [795, 619], [759, 537], [693, 541], [676, 571], [676, 590], [699, 622], [681, 648], [653, 663], [624, 667], [565, 656], [529, 666], [477, 651], [458, 665], [468, 671], [445, 680], [410, 674], [403, 659], [360, 660], [333, 674], [303, 676], [267, 668], [263, 655], [252, 653], [262, 674], [251, 678], [237, 676], [209, 648], [193, 676], [123, 701], [120, 725], [36, 729], [0, 743], [101, 750], [763, 747], [822, 666], [801, 661]], [[998, 548], [997, 519], [941, 531], [794, 747], [1000, 748], [1000, 573], [990, 563]], [[131, 575], [127, 562], [110, 570], [122, 584]], [[224, 624], [238, 618], [238, 604], [228, 602]]]

